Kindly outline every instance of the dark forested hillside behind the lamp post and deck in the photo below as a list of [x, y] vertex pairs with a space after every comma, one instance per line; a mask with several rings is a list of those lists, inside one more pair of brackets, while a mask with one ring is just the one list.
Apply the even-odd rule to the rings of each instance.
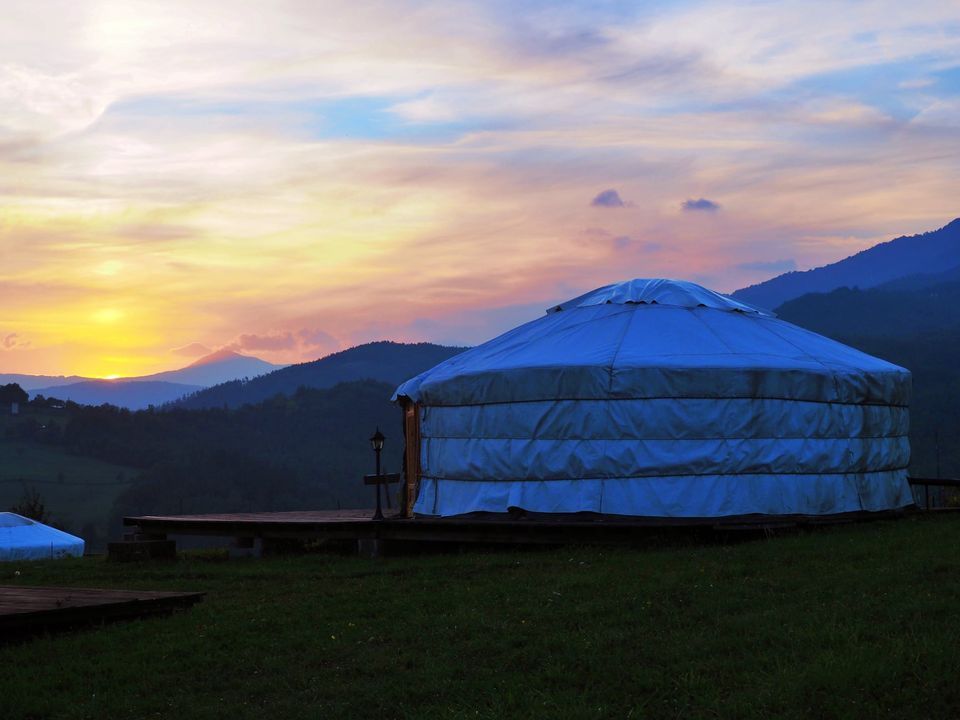
[[373, 472], [368, 438], [378, 426], [387, 436], [384, 470], [400, 470], [402, 414], [389, 401], [392, 390], [370, 381], [301, 388], [236, 410], [130, 412], [71, 403], [62, 429], [34, 424], [33, 439], [139, 470], [114, 518], [364, 507], [373, 501], [362, 476]]

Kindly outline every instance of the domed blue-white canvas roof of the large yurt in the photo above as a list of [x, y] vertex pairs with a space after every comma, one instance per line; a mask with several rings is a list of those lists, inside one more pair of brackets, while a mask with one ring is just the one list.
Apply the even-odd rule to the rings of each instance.
[[395, 398], [770, 397], [906, 405], [907, 370], [694, 283], [598, 288], [427, 370]]

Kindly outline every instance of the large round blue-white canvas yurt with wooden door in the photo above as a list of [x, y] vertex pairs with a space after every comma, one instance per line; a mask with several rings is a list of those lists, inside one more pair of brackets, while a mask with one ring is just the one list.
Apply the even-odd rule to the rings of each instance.
[[419, 515], [912, 503], [910, 373], [679, 280], [598, 288], [403, 383]]

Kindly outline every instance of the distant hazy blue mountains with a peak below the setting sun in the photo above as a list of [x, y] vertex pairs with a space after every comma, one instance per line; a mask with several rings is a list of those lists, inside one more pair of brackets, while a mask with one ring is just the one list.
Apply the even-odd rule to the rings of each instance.
[[283, 366], [240, 355], [231, 350], [220, 350], [179, 370], [139, 377], [100, 380], [76, 375], [61, 377], [18, 374], [0, 375], [0, 381], [3, 384], [15, 382], [34, 396], [56, 397], [83, 405], [108, 403], [128, 410], [143, 410], [151, 405], [173, 402], [184, 395], [227, 380], [256, 377], [281, 367]]

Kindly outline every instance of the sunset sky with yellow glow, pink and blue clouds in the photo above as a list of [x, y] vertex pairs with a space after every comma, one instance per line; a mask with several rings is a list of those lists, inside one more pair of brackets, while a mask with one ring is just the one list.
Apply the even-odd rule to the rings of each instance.
[[960, 215], [960, 2], [0, 7], [0, 372], [476, 343]]

